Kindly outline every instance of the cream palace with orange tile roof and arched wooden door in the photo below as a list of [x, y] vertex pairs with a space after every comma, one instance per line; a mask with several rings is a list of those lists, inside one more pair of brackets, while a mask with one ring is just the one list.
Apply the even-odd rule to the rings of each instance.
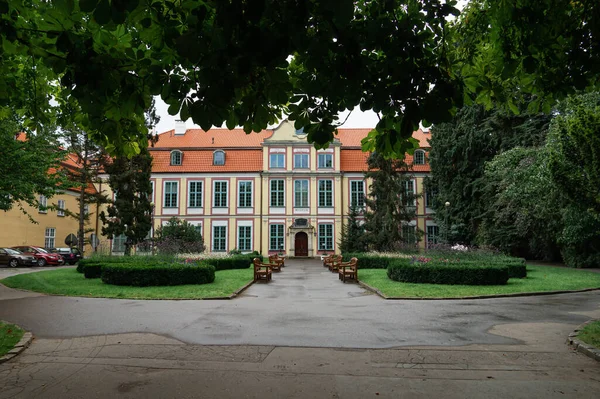
[[[202, 232], [209, 252], [259, 251], [289, 256], [339, 252], [350, 204], [364, 205], [368, 154], [361, 140], [370, 129], [339, 129], [329, 148], [316, 150], [290, 121], [246, 135], [241, 129], [185, 129], [159, 135], [150, 148], [154, 228], [177, 217]], [[421, 149], [407, 156], [407, 190], [424, 191], [429, 174], [427, 131], [414, 137]], [[437, 240], [427, 206], [415, 202], [416, 217], [402, 228], [425, 233], [421, 246]], [[413, 230], [414, 231], [414, 230]], [[113, 240], [113, 252], [122, 243]]]

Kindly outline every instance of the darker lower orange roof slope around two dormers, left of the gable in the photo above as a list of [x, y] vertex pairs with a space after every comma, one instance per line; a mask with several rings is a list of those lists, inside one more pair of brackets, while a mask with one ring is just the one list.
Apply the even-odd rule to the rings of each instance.
[[[181, 147], [183, 148], [183, 147]], [[181, 165], [171, 165], [171, 152], [150, 148], [152, 171], [155, 173], [181, 172], [260, 172], [262, 149], [226, 150], [225, 165], [213, 165], [213, 150], [184, 151]]]

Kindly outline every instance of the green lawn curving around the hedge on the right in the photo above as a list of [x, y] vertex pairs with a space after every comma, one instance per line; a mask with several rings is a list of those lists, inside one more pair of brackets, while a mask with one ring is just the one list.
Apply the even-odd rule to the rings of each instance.
[[527, 265], [527, 277], [506, 285], [470, 286], [400, 283], [390, 280], [385, 269], [360, 269], [358, 279], [390, 297], [449, 298], [600, 288], [600, 273], [579, 269]]

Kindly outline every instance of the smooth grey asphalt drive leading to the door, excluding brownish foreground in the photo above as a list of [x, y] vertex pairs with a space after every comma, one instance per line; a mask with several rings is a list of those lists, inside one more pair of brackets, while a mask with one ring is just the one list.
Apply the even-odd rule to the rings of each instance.
[[[343, 284], [319, 261], [288, 260], [234, 300], [44, 296], [0, 286], [0, 319], [39, 338], [153, 333], [188, 344], [344, 348], [515, 344], [496, 325], [600, 318], [600, 292], [506, 299], [386, 301]], [[0, 270], [0, 278], [10, 270]]]

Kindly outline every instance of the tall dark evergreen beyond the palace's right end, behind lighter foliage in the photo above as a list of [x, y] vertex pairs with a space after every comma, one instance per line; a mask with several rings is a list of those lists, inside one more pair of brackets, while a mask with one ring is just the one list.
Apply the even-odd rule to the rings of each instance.
[[486, 196], [483, 177], [486, 162], [516, 146], [542, 145], [549, 121], [545, 114], [514, 115], [470, 106], [462, 108], [452, 122], [433, 127], [428, 186], [437, 191], [433, 209], [439, 225], [448, 229], [443, 236], [453, 242], [475, 243], [492, 201]]

